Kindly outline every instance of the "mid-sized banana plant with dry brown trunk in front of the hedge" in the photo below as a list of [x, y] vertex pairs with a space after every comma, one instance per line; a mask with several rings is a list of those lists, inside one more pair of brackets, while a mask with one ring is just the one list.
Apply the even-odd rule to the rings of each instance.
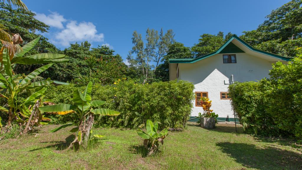
[[[70, 131], [76, 133], [76, 138], [69, 145], [69, 149], [70, 148], [79, 149], [79, 146], [81, 146], [82, 143], [87, 144], [93, 126], [95, 114], [101, 116], [117, 116], [120, 114], [119, 112], [114, 110], [98, 108], [99, 106], [105, 104], [105, 101], [101, 101], [101, 100], [92, 101], [90, 96], [91, 90], [92, 90], [91, 81], [88, 83], [87, 87], [82, 93], [79, 90], [75, 90], [73, 92], [72, 100], [73, 102], [76, 103], [76, 105], [56, 104], [56, 105], [39, 107], [39, 110], [41, 112], [56, 113], [60, 115], [65, 115], [69, 113], [77, 114], [77, 116], [79, 117], [79, 124], [76, 125], [77, 127], [71, 129]], [[56, 129], [51, 130], [50, 132], [56, 132], [68, 126], [74, 126], [74, 124], [67, 123]], [[94, 135], [94, 136], [98, 138], [104, 137], [102, 135]]]

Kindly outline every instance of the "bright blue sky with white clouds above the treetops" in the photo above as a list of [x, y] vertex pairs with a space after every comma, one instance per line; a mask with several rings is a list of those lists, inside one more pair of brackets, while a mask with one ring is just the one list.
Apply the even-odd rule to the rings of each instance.
[[24, 0], [37, 19], [50, 25], [43, 34], [58, 48], [88, 40], [93, 47], [106, 44], [126, 59], [132, 33], [145, 38], [147, 28], [173, 29], [175, 40], [191, 47], [204, 33], [241, 35], [265, 20], [271, 10], [289, 0], [136, 0], [67, 1]]

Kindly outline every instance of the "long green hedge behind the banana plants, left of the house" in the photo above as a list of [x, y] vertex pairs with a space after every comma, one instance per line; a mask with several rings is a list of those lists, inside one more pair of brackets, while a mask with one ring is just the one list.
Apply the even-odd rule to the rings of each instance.
[[[54, 103], [72, 104], [75, 84], [52, 87], [46, 98]], [[104, 100], [104, 108], [117, 110], [121, 114], [112, 117], [97, 117], [95, 126], [136, 128], [147, 119], [159, 121], [161, 127], [183, 128], [190, 116], [194, 85], [186, 81], [138, 84], [133, 80], [120, 80], [116, 84], [94, 84], [93, 100]], [[76, 121], [75, 114], [51, 115], [53, 123]]]

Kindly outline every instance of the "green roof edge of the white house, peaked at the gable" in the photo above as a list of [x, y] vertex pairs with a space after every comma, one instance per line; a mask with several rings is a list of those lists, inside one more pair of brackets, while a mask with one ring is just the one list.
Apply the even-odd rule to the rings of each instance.
[[207, 55], [204, 55], [204, 56], [201, 56], [201, 57], [198, 57], [198, 58], [169, 59], [169, 63], [195, 63], [196, 61], [203, 60], [207, 57], [210, 57], [212, 55], [219, 54], [219, 53], [244, 53], [243, 50], [241, 50], [239, 47], [237, 47], [235, 44], [233, 44], [231, 42], [233, 39], [238, 40], [240, 43], [245, 45], [251, 51], [254, 51], [254, 52], [257, 52], [257, 53], [260, 53], [260, 54], [265, 54], [265, 55], [268, 55], [270, 57], [274, 57], [274, 58], [277, 58], [277, 59], [283, 60], [283, 61], [291, 60], [291, 58], [283, 57], [283, 56], [278, 55], [278, 54], [273, 54], [273, 53], [269, 53], [269, 52], [266, 52], [266, 51], [258, 50], [256, 48], [250, 46], [249, 44], [247, 44], [245, 41], [243, 41], [242, 39], [240, 39], [236, 35], [233, 35], [217, 51], [214, 51], [210, 54], [207, 54]]

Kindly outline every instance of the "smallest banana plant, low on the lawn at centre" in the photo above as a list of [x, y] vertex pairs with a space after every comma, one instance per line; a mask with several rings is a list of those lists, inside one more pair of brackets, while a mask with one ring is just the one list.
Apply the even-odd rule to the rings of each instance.
[[[168, 129], [163, 129], [161, 132], [157, 133], [158, 122], [153, 122], [148, 119], [146, 122], [147, 132], [141, 129], [137, 130], [137, 134], [144, 139], [144, 147], [148, 150], [148, 156], [159, 150], [160, 144], [164, 144], [164, 139], [168, 136]], [[160, 143], [159, 143], [160, 142]]]

